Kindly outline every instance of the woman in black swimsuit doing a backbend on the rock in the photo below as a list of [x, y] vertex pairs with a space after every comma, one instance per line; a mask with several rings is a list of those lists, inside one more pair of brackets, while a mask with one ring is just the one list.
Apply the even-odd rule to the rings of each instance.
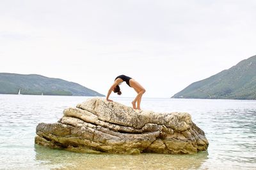
[[[120, 75], [115, 78], [115, 82], [108, 90], [108, 95], [106, 97], [107, 101], [112, 101], [112, 100], [108, 99], [108, 97], [110, 96], [112, 91], [117, 93], [118, 95], [122, 94], [122, 92], [120, 91], [119, 85], [123, 81], [125, 81], [127, 83], [127, 85], [129, 85], [129, 87], [132, 87], [138, 93], [138, 95], [136, 96], [134, 101], [132, 101], [132, 107], [134, 109], [140, 110], [141, 97], [146, 92], [146, 90], [137, 81], [135, 81], [133, 78], [131, 78], [129, 76]], [[136, 106], [136, 103], [137, 103], [137, 106]]]

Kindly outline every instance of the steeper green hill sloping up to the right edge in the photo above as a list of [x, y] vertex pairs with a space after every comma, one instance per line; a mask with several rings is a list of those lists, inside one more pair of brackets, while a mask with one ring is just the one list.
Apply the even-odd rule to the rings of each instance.
[[256, 99], [256, 55], [192, 83], [173, 98]]

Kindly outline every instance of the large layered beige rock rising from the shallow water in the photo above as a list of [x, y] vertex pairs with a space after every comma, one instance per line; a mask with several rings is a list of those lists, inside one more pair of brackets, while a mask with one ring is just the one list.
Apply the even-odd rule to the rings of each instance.
[[188, 113], [134, 110], [99, 98], [63, 113], [58, 123], [37, 125], [36, 144], [86, 153], [196, 153], [209, 145]]

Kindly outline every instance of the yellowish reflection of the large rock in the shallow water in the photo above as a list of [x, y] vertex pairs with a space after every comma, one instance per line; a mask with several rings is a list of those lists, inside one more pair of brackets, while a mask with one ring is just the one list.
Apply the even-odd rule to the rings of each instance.
[[193, 155], [143, 153], [74, 153], [35, 145], [36, 160], [56, 169], [198, 169], [207, 160], [207, 152]]

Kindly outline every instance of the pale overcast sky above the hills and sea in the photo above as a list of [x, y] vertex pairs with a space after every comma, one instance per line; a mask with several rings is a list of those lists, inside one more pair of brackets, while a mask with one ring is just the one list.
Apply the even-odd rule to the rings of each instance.
[[255, 9], [254, 0], [0, 0], [0, 73], [61, 78], [104, 95], [125, 74], [143, 97], [172, 97], [256, 55]]

